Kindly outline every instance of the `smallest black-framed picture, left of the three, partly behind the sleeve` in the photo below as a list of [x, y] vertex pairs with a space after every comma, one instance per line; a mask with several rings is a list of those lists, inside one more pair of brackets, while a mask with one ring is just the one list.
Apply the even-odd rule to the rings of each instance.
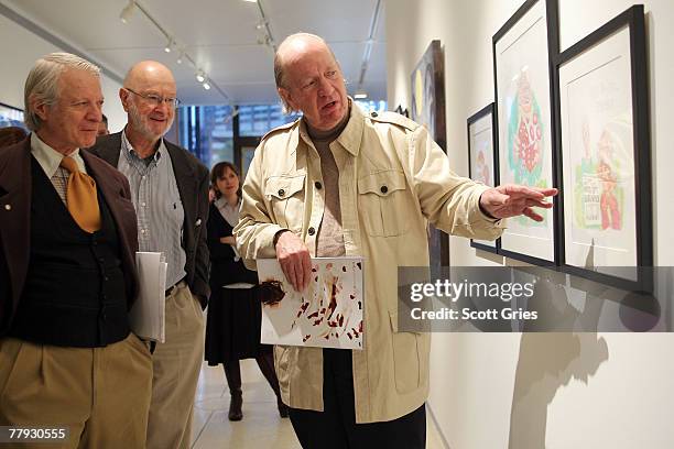
[[[468, 118], [468, 176], [486, 186], [497, 186], [496, 167], [499, 166], [496, 152], [496, 127], [493, 125], [493, 103]], [[498, 240], [474, 240], [470, 247], [497, 252]]]

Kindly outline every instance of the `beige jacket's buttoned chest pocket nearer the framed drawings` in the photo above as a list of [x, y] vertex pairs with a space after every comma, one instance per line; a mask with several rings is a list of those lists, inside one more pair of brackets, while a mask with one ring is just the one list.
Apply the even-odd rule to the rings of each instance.
[[369, 236], [394, 237], [407, 231], [405, 189], [405, 174], [395, 169], [358, 179], [358, 211]]

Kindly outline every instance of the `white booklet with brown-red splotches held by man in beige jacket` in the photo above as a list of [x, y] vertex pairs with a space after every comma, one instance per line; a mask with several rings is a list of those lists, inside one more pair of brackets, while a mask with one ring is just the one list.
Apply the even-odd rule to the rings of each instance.
[[276, 260], [258, 261], [262, 342], [362, 349], [362, 261], [312, 260], [313, 280], [297, 293]]

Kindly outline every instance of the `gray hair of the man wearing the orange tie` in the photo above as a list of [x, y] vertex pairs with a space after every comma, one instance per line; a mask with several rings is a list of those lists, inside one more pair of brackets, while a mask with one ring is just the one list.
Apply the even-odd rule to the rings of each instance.
[[23, 89], [24, 122], [29, 130], [37, 131], [42, 125], [42, 119], [31, 106], [31, 99], [36, 99], [36, 105], [55, 105], [61, 96], [58, 81], [67, 68], [100, 76], [98, 66], [69, 53], [51, 53], [35, 61]]

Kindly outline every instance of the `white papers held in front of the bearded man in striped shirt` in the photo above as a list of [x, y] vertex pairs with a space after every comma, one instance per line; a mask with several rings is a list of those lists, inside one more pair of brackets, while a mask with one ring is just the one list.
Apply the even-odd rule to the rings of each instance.
[[168, 264], [162, 262], [162, 253], [135, 253], [138, 267], [139, 295], [129, 313], [131, 330], [140, 338], [165, 341], [165, 311], [166, 311], [166, 269]]

